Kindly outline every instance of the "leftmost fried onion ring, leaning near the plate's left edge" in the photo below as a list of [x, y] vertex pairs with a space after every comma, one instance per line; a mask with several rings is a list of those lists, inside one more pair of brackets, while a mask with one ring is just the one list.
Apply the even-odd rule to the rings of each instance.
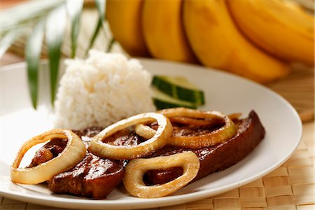
[[[43, 162], [36, 167], [19, 168], [20, 162], [27, 151], [36, 144], [45, 143], [50, 139], [68, 139], [66, 147], [57, 157]], [[25, 142], [20, 148], [17, 157], [11, 166], [11, 181], [22, 184], [37, 184], [48, 181], [56, 174], [65, 172], [76, 166], [86, 153], [86, 148], [81, 139], [70, 130], [55, 129], [44, 132]]]

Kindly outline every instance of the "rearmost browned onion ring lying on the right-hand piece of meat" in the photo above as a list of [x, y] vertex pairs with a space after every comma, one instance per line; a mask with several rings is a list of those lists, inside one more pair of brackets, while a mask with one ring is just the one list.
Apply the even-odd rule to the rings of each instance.
[[[162, 113], [171, 119], [174, 117], [183, 116], [188, 118], [218, 118], [224, 120], [225, 122], [225, 125], [218, 130], [214, 130], [213, 132], [199, 136], [179, 137], [172, 135], [172, 137], [169, 138], [167, 144], [173, 146], [179, 146], [183, 148], [202, 148], [206, 146], [213, 146], [234, 137], [237, 131], [233, 121], [228, 116], [224, 116], [222, 113], [217, 111], [203, 112], [195, 109], [174, 108], [163, 109], [162, 111], [159, 111], [159, 113]], [[147, 137], [150, 137], [150, 135], [154, 134], [155, 130], [146, 125], [138, 125], [136, 132], [140, 136], [147, 135]]]

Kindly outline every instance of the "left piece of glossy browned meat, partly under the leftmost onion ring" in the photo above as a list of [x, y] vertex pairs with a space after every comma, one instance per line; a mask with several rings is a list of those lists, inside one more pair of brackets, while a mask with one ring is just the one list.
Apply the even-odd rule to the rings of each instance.
[[[87, 145], [90, 139], [102, 130], [100, 127], [90, 127], [82, 131], [74, 131]], [[138, 144], [135, 134], [118, 132], [113, 136], [113, 144]], [[55, 158], [66, 146], [66, 139], [52, 139], [40, 148], [29, 167], [34, 167]], [[80, 197], [103, 199], [123, 181], [125, 160], [109, 160], [99, 158], [92, 153], [86, 153], [81, 162], [67, 172], [54, 176], [48, 181], [49, 189], [54, 193], [69, 193]]]

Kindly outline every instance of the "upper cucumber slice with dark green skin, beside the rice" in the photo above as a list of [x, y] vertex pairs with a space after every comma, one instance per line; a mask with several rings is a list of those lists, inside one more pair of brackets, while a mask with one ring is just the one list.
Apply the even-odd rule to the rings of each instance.
[[175, 99], [204, 105], [204, 92], [182, 76], [154, 76], [152, 84]]

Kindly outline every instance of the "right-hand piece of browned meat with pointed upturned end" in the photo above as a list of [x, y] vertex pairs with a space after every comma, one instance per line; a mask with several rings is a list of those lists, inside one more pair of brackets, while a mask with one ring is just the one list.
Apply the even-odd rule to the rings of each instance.
[[[260, 120], [255, 113], [251, 111], [248, 118], [236, 122], [237, 134], [232, 139], [207, 148], [189, 149], [176, 148], [174, 146], [165, 146], [156, 151], [150, 157], [172, 155], [183, 151], [193, 151], [200, 158], [200, 170], [195, 178], [202, 179], [211, 173], [222, 171], [235, 165], [239, 160], [244, 158], [253, 148], [265, 137], [265, 129], [262, 127]], [[178, 128], [175, 129], [175, 131]], [[193, 129], [182, 127], [181, 132], [194, 134]], [[182, 174], [179, 167], [167, 171], [152, 170], [146, 174], [146, 181], [149, 184], [160, 184], [171, 181]]]

